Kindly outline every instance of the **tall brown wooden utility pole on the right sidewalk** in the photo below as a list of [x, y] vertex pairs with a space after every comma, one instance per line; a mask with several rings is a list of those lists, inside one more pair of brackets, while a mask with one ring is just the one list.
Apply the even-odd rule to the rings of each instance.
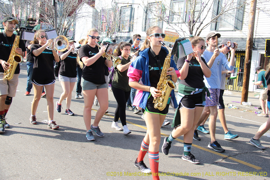
[[250, 1], [241, 104], [242, 102], [247, 102], [247, 97], [248, 97], [248, 86], [249, 86], [250, 65], [251, 65], [252, 48], [253, 48], [253, 33], [254, 33], [254, 24], [255, 24], [256, 5], [257, 5], [257, 0]]

